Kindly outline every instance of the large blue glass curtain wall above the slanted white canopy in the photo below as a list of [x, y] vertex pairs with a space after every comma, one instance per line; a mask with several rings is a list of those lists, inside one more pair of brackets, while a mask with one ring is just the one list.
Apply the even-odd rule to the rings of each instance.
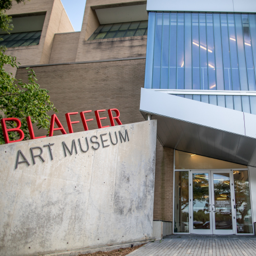
[[255, 90], [256, 14], [150, 12], [145, 88]]

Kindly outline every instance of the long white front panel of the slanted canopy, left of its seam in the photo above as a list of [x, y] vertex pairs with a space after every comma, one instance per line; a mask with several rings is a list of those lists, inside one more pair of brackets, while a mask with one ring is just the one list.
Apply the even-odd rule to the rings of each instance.
[[245, 135], [243, 112], [151, 89], [142, 88], [140, 110]]

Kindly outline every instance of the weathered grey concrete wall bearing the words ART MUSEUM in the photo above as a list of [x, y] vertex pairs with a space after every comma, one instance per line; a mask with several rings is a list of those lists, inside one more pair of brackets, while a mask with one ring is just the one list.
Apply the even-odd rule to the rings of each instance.
[[[109, 132], [127, 129], [113, 145]], [[108, 139], [103, 147], [103, 139]], [[90, 142], [98, 137], [100, 148]], [[88, 138], [89, 150], [86, 149]], [[72, 155], [64, 155], [65, 142]], [[94, 138], [95, 139], [95, 138]], [[152, 238], [156, 121], [0, 146], [0, 254], [38, 255]], [[49, 154], [52, 146], [53, 160]], [[33, 164], [31, 147], [42, 147]], [[15, 169], [18, 150], [27, 163]], [[35, 148], [34, 154], [40, 150]], [[22, 156], [19, 161], [23, 160]]]

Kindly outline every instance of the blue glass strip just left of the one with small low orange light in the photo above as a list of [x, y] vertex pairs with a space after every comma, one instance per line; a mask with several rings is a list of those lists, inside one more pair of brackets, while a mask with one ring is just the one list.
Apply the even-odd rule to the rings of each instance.
[[177, 13], [171, 13], [170, 56], [169, 56], [169, 89], [176, 89], [177, 61]]

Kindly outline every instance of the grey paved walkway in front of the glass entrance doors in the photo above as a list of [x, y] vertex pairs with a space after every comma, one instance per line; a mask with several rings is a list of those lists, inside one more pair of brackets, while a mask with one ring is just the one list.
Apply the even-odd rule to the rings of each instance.
[[256, 236], [171, 235], [129, 253], [131, 256], [255, 256]]

